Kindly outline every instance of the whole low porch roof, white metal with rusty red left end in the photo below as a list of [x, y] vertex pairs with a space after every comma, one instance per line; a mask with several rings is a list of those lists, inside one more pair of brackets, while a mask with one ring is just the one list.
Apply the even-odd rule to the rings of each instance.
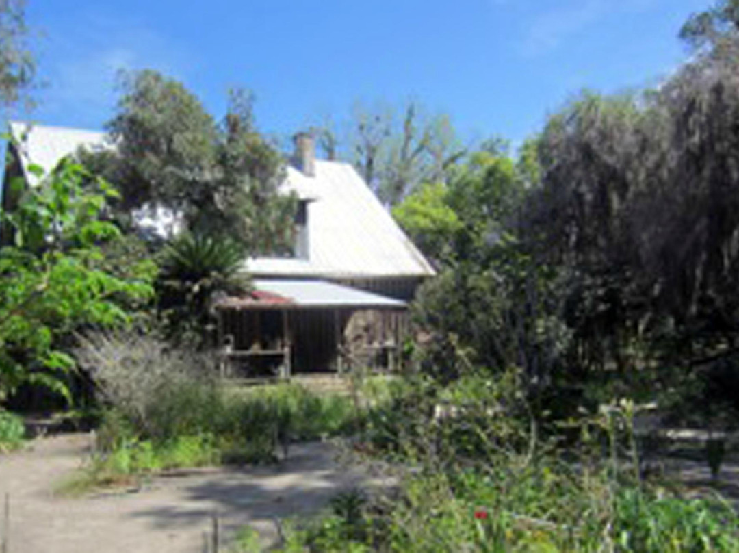
[[324, 280], [255, 279], [254, 291], [216, 302], [218, 309], [403, 309], [406, 302]]

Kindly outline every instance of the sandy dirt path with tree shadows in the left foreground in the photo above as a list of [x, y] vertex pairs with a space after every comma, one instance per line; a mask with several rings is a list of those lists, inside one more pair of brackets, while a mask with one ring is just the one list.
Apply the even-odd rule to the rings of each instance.
[[[10, 497], [7, 553], [201, 552], [214, 512], [225, 537], [249, 523], [276, 540], [275, 518], [316, 512], [342, 489], [376, 484], [339, 466], [330, 444], [311, 443], [291, 447], [290, 458], [275, 467], [156, 478], [137, 492], [55, 496], [54, 486], [80, 467], [90, 439], [39, 438], [0, 455], [0, 499]], [[3, 532], [0, 516], [0, 544]]]

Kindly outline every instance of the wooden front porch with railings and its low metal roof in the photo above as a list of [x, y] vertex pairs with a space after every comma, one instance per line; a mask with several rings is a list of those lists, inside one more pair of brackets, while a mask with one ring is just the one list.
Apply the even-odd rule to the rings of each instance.
[[222, 376], [289, 378], [392, 370], [408, 331], [406, 304], [319, 280], [256, 280], [247, 296], [217, 303]]

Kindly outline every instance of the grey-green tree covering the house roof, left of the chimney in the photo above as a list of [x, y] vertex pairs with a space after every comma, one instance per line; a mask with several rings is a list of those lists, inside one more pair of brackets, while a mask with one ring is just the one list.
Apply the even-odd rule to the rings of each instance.
[[124, 217], [163, 207], [188, 231], [228, 237], [245, 254], [285, 251], [296, 202], [278, 193], [282, 156], [256, 131], [252, 102], [231, 92], [217, 124], [183, 84], [134, 72], [108, 125], [116, 152], [84, 155], [84, 163], [120, 187]]

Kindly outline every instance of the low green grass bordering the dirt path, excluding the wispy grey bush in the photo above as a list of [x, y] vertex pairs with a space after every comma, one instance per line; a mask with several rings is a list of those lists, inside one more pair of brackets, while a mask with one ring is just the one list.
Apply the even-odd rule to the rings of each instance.
[[182, 381], [157, 394], [143, 413], [104, 413], [97, 451], [58, 492], [131, 485], [168, 469], [275, 463], [289, 455], [291, 443], [351, 432], [356, 420], [350, 398], [317, 396], [296, 384], [234, 393]]

